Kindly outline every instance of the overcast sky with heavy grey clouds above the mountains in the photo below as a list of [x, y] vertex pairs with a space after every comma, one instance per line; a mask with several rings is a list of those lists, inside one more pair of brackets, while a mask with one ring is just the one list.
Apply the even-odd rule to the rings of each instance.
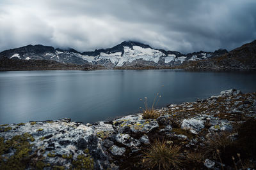
[[0, 0], [0, 51], [26, 45], [79, 52], [139, 41], [182, 53], [256, 39], [255, 0]]

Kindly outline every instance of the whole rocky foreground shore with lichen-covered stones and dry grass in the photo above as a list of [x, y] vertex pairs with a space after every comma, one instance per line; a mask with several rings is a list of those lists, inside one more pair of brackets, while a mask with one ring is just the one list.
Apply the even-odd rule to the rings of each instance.
[[0, 125], [0, 169], [166, 169], [158, 145], [176, 148], [168, 169], [255, 168], [255, 92], [225, 90], [152, 115]]

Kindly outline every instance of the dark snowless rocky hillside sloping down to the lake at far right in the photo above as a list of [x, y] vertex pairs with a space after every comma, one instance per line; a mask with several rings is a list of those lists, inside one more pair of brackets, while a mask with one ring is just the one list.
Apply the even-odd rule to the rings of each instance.
[[182, 69], [256, 69], [256, 40], [220, 57], [184, 62]]

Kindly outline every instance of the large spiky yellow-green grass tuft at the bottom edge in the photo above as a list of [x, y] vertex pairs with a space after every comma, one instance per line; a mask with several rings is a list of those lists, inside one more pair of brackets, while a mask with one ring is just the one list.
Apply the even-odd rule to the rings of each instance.
[[180, 146], [168, 145], [166, 141], [155, 141], [145, 152], [143, 166], [149, 169], [179, 169], [182, 164]]

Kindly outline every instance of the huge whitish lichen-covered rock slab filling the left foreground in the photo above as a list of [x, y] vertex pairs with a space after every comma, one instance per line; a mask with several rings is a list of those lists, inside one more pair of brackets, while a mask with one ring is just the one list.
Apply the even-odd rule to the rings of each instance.
[[[3, 138], [4, 141], [29, 134], [31, 136], [31, 139], [29, 138], [31, 148], [26, 150], [29, 151], [28, 154], [36, 152], [36, 157], [40, 160], [43, 158], [41, 162], [44, 166], [48, 164], [51, 167], [61, 165], [66, 169], [70, 166], [79, 168], [80, 163], [85, 161], [88, 163], [86, 167], [93, 166], [94, 169], [107, 169], [109, 167], [108, 157], [103, 152], [100, 139], [95, 136], [93, 127], [62, 119], [58, 121], [29, 122], [18, 126], [10, 124], [6, 128], [8, 128], [8, 131], [0, 133], [0, 138]], [[19, 141], [17, 142], [19, 143]], [[11, 147], [4, 155], [6, 161], [15, 154]], [[72, 162], [76, 164], [72, 164]], [[29, 164], [29, 168], [35, 169], [35, 166]]]

